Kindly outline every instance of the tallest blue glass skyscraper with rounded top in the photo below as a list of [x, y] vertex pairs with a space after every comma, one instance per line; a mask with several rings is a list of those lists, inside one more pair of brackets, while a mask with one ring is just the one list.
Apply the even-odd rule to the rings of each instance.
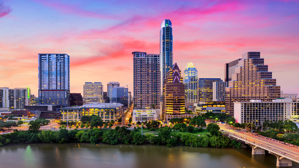
[[[160, 77], [161, 77], [161, 89], [164, 85], [164, 79], [166, 73], [173, 65], [173, 37], [172, 37], [172, 25], [169, 19], [164, 19], [160, 28]], [[161, 94], [162, 94], [161, 90]]]

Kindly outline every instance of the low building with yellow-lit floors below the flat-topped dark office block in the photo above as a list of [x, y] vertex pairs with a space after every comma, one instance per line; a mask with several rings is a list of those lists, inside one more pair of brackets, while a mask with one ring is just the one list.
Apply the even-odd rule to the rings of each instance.
[[225, 113], [225, 101], [206, 101], [194, 103], [194, 110], [196, 114]]

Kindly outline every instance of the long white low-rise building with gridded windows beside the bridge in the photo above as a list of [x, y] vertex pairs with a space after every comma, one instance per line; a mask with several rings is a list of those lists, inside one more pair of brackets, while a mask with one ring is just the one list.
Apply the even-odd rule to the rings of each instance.
[[287, 120], [299, 117], [299, 102], [291, 98], [277, 98], [269, 102], [250, 100], [250, 102], [234, 102], [234, 117], [238, 123], [253, 123], [261, 126], [266, 120]]

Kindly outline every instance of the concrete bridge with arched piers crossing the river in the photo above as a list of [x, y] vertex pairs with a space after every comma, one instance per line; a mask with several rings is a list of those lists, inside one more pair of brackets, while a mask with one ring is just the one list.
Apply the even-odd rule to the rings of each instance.
[[276, 156], [277, 167], [291, 167], [292, 161], [299, 163], [299, 149], [280, 143], [245, 133], [241, 130], [236, 130], [228, 126], [219, 125], [220, 129], [228, 132], [228, 136], [232, 139], [242, 141], [252, 147], [252, 155], [264, 155], [265, 150]]

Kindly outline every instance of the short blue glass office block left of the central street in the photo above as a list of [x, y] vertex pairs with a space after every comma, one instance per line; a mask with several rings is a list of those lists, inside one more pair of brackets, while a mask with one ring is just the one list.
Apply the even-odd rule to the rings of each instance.
[[121, 103], [124, 108], [128, 107], [128, 88], [114, 87], [112, 88], [112, 103]]

